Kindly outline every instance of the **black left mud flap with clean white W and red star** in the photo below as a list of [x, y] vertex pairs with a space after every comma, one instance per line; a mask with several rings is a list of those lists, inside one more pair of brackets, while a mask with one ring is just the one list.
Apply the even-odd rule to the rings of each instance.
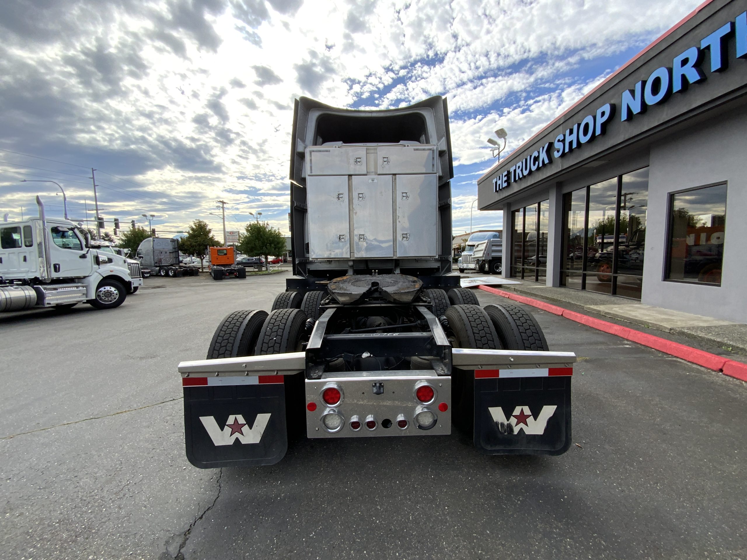
[[202, 469], [275, 464], [288, 449], [282, 376], [184, 379], [187, 459]]

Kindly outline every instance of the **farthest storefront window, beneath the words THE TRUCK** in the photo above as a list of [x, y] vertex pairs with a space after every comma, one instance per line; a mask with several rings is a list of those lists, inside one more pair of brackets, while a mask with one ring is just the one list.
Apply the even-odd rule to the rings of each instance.
[[513, 247], [511, 276], [537, 281], [545, 278], [548, 263], [550, 201], [519, 208], [511, 213]]

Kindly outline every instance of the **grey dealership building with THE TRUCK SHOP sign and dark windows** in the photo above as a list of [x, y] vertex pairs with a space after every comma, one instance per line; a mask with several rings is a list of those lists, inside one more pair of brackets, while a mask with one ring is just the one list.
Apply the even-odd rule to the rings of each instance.
[[711, 0], [478, 180], [503, 276], [747, 323], [747, 13]]

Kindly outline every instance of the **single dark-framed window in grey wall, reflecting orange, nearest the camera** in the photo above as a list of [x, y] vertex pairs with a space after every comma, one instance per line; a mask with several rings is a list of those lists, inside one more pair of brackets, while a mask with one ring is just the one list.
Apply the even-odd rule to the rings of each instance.
[[720, 286], [726, 185], [675, 193], [669, 201], [666, 278]]

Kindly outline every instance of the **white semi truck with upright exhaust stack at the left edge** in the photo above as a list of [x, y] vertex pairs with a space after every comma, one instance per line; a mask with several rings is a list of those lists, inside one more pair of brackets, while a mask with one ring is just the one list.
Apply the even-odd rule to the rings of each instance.
[[125, 258], [91, 249], [88, 234], [69, 220], [39, 217], [0, 223], [0, 312], [68, 309], [78, 303], [111, 309], [143, 285]]

